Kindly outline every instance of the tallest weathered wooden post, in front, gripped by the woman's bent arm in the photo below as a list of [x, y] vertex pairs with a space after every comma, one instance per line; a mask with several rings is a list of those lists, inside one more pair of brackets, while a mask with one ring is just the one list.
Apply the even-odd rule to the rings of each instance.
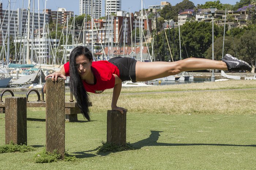
[[65, 153], [65, 80], [46, 80], [46, 151]]

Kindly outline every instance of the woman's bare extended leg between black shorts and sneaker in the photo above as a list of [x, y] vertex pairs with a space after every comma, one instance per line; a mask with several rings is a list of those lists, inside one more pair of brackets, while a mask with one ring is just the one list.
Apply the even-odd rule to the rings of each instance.
[[136, 81], [148, 81], [170, 75], [176, 75], [182, 71], [218, 69], [227, 70], [226, 63], [222, 61], [188, 58], [177, 62], [137, 62]]

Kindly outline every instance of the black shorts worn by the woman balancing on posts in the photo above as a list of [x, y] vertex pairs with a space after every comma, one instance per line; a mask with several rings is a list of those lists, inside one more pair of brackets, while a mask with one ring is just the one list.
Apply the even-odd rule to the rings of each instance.
[[117, 66], [122, 82], [127, 80], [131, 80], [133, 83], [136, 82], [135, 66], [137, 60], [129, 57], [114, 57], [109, 59], [108, 62]]

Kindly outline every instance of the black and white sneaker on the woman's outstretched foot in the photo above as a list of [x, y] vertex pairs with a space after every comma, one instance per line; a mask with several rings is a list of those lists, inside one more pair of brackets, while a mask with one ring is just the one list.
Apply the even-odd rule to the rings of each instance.
[[234, 71], [234, 70], [252, 71], [252, 67], [250, 66], [250, 64], [244, 62], [243, 60], [238, 60], [237, 58], [231, 56], [230, 54], [226, 54], [223, 57], [222, 61], [227, 64], [227, 69], [229, 71]]

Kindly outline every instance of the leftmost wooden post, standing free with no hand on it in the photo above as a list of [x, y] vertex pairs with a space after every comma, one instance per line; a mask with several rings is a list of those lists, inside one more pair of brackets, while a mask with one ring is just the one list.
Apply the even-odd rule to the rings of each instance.
[[27, 99], [5, 98], [5, 143], [27, 145]]

